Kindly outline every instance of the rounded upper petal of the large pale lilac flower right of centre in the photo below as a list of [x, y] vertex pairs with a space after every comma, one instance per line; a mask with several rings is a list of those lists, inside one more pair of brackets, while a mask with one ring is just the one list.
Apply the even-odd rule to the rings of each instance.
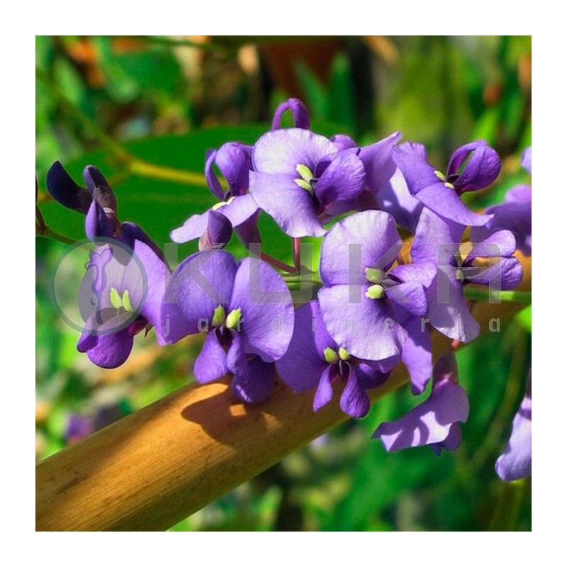
[[388, 269], [401, 239], [392, 215], [380, 210], [356, 213], [332, 226], [321, 247], [320, 274], [325, 286], [366, 283], [365, 269]]

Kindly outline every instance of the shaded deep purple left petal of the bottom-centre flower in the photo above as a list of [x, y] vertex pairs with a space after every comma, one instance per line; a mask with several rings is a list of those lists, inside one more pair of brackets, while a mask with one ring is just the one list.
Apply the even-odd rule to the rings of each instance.
[[328, 366], [322, 358], [322, 352], [334, 344], [331, 342], [318, 349], [315, 344], [316, 330], [313, 332], [315, 317], [320, 319], [316, 301], [304, 303], [296, 310], [291, 342], [286, 354], [276, 362], [281, 379], [296, 392], [312, 390], [318, 385], [322, 371]]

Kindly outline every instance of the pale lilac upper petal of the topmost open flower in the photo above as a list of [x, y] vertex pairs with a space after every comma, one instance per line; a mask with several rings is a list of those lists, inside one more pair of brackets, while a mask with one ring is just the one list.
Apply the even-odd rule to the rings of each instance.
[[[337, 147], [326, 137], [302, 128], [286, 128], [262, 135], [254, 145], [252, 162], [259, 173], [287, 174], [295, 179], [298, 165], [305, 165], [315, 172], [320, 159], [336, 152]], [[273, 190], [276, 187], [274, 183]], [[254, 194], [252, 183], [250, 189]]]

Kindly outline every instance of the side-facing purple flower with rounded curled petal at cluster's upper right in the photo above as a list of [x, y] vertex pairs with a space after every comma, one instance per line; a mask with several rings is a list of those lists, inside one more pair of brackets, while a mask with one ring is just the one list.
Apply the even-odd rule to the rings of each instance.
[[412, 196], [440, 217], [464, 226], [482, 226], [490, 220], [488, 215], [473, 213], [460, 198], [466, 191], [487, 187], [500, 173], [500, 158], [485, 141], [459, 147], [449, 159], [446, 174], [427, 161], [421, 144], [405, 142], [393, 148], [392, 157]]

